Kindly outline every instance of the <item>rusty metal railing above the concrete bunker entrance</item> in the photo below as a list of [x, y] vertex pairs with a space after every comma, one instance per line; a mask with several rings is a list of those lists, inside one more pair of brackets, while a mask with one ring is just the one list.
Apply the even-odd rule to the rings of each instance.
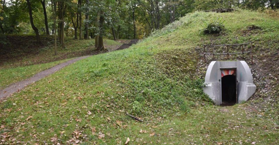
[[[253, 43], [254, 42], [247, 42], [247, 43], [242, 43], [242, 44], [224, 44], [224, 45], [203, 45], [204, 46], [204, 62], [206, 63], [206, 55], [227, 55], [227, 57], [229, 58], [229, 54], [244, 54], [244, 53], [251, 53], [251, 63], [253, 64]], [[251, 51], [245, 51], [244, 52], [244, 47], [243, 45], [245, 44], [251, 44]], [[235, 52], [235, 53], [229, 53], [229, 46], [237, 46], [237, 45], [241, 45], [242, 48], [242, 52]], [[213, 48], [213, 53], [207, 53], [207, 51], [205, 51], [206, 46], [212, 47]], [[227, 53], [214, 53], [214, 47], [218, 47], [218, 46], [227, 46]]]

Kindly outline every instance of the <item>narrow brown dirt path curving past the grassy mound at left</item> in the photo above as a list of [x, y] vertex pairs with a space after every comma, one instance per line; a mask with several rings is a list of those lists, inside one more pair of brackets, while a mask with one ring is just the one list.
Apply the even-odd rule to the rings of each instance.
[[44, 70], [42, 72], [37, 73], [36, 75], [34, 75], [33, 77], [30, 77], [26, 80], [20, 81], [20, 82], [16, 82], [14, 84], [10, 84], [8, 87], [6, 87], [3, 90], [0, 90], [0, 99], [5, 98], [7, 96], [10, 96], [11, 94], [13, 94], [14, 92], [19, 92], [20, 89], [23, 89], [24, 87], [26, 87], [29, 84], [32, 84], [33, 82], [36, 82], [58, 70], [60, 70], [61, 68], [64, 68], [65, 66], [74, 63], [78, 60], [84, 59], [84, 58], [88, 58], [89, 56], [81, 56], [69, 61], [66, 61], [65, 63], [60, 63], [50, 69]]

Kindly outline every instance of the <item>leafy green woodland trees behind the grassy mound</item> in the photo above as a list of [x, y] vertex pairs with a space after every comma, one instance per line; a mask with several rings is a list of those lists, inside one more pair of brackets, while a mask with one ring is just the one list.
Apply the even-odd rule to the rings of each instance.
[[[53, 6], [53, 8], [52, 8]], [[141, 39], [187, 13], [216, 8], [279, 8], [279, 0], [1, 0], [1, 35], [54, 35], [65, 48], [64, 37]], [[100, 44], [99, 44], [100, 42]]]

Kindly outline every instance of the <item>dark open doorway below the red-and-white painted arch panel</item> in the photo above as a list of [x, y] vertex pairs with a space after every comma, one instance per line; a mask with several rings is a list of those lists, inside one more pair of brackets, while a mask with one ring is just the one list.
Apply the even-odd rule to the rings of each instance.
[[237, 103], [236, 76], [225, 75], [222, 77], [222, 106], [230, 106]]

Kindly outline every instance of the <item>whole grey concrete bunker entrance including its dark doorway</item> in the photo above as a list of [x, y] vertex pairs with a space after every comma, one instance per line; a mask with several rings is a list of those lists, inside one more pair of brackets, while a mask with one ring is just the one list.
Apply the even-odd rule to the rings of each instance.
[[228, 106], [247, 101], [256, 86], [245, 61], [212, 61], [203, 89], [216, 105]]

